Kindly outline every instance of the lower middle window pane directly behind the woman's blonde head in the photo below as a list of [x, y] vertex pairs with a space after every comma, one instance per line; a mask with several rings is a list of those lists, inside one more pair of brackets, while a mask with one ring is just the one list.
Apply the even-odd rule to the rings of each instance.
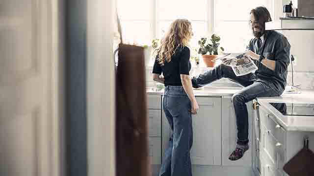
[[[164, 33], [168, 31], [169, 26], [172, 21], [161, 21], [159, 22], [158, 27], [158, 38], [162, 38], [164, 36]], [[208, 27], [207, 22], [191, 22], [192, 23], [192, 29], [193, 29], [193, 38], [191, 40], [191, 46], [197, 47], [197, 42], [201, 39], [201, 37], [207, 37], [208, 35]]]

